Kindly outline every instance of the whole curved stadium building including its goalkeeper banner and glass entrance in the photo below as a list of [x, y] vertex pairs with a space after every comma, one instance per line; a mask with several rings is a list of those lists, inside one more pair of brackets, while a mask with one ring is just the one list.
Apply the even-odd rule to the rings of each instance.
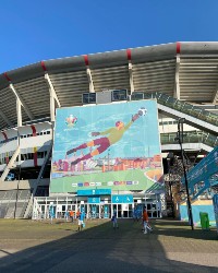
[[[184, 163], [181, 144], [187, 170], [218, 144], [218, 43], [173, 43], [39, 61], [2, 73], [0, 92], [0, 217], [47, 217], [51, 206], [56, 217], [77, 209], [84, 209], [87, 217], [110, 217], [114, 210], [119, 217], [131, 217], [141, 204], [147, 205], [150, 217], [161, 217], [169, 207], [175, 213], [182, 194], [178, 194], [182, 192]], [[111, 147], [99, 157], [94, 158], [92, 149], [92, 157], [84, 157], [82, 152], [73, 157], [84, 149], [77, 146], [75, 151], [74, 143], [66, 143], [69, 126], [78, 121], [78, 112], [82, 130], [96, 120], [106, 123], [105, 112], [113, 109], [117, 116], [110, 114], [112, 120], [119, 115], [125, 118], [126, 112], [133, 123], [131, 130], [143, 130], [146, 140], [157, 139], [159, 152], [152, 153], [154, 144], [144, 147], [144, 139], [135, 136], [143, 155], [123, 152], [112, 156]], [[141, 114], [142, 109], [145, 112]], [[62, 112], [66, 116], [61, 119]], [[147, 128], [145, 132], [150, 112], [149, 128], [154, 126], [154, 130]], [[60, 120], [69, 131], [59, 127]], [[59, 138], [66, 143], [64, 153], [72, 155], [68, 159], [56, 157], [62, 147]], [[83, 140], [82, 134], [77, 138]], [[136, 169], [153, 186], [140, 187], [133, 175]], [[86, 170], [89, 176], [100, 173], [101, 178], [81, 182], [76, 176], [84, 176]], [[125, 174], [132, 178], [107, 180], [110, 171], [129, 171]], [[61, 177], [71, 188], [64, 182], [57, 186]], [[213, 179], [216, 191], [216, 177]], [[198, 197], [210, 200], [210, 192], [207, 189]]]

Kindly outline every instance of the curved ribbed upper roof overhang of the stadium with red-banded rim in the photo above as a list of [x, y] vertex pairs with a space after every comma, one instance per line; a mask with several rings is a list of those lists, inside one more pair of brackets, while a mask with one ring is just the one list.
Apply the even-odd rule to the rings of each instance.
[[[0, 75], [0, 129], [50, 117], [57, 107], [82, 105], [102, 90], [161, 92], [193, 104], [218, 103], [218, 43], [173, 43], [40, 61]], [[50, 92], [51, 91], [51, 92]]]

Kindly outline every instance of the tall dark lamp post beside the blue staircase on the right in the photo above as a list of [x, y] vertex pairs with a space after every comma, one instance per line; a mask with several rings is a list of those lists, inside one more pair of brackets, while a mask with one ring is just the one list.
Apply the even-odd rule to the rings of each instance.
[[186, 190], [186, 195], [187, 195], [189, 217], [190, 217], [190, 223], [191, 223], [192, 230], [194, 230], [193, 216], [192, 216], [192, 205], [191, 205], [191, 200], [190, 200], [190, 192], [189, 192], [189, 186], [187, 186], [187, 176], [186, 176], [186, 169], [185, 169], [185, 164], [184, 164], [184, 151], [182, 149], [182, 143], [183, 143], [183, 123], [184, 122], [185, 122], [184, 118], [180, 118], [178, 120], [178, 138], [175, 140], [179, 141], [180, 149], [181, 149], [181, 157], [182, 157], [182, 166], [183, 166], [183, 171], [184, 171], [185, 190]]

